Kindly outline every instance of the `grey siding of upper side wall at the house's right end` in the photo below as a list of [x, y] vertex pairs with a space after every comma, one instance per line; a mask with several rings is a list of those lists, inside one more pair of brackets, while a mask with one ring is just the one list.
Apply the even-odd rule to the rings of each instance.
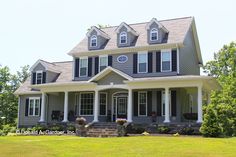
[[180, 48], [179, 60], [181, 75], [200, 75], [200, 67], [197, 61], [197, 52], [193, 42], [193, 33], [191, 28], [185, 37], [184, 47]]

